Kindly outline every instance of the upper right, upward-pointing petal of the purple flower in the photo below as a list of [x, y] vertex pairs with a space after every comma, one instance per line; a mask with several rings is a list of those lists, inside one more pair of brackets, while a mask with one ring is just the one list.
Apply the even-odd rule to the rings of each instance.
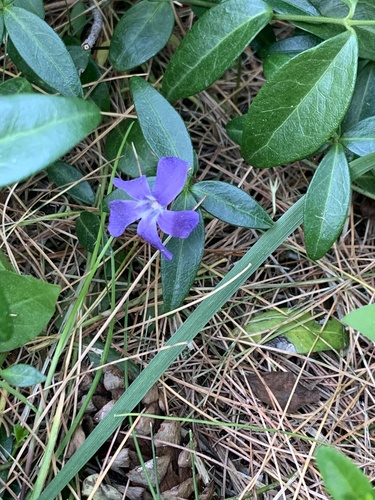
[[152, 194], [161, 206], [166, 207], [181, 193], [188, 169], [189, 164], [180, 158], [160, 158]]

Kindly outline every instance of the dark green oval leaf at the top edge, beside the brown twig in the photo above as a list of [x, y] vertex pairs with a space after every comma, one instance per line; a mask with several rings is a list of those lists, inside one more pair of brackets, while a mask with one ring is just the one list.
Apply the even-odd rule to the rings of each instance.
[[173, 9], [168, 2], [142, 0], [131, 7], [112, 36], [112, 66], [118, 71], [129, 71], [146, 62], [165, 46], [173, 25]]

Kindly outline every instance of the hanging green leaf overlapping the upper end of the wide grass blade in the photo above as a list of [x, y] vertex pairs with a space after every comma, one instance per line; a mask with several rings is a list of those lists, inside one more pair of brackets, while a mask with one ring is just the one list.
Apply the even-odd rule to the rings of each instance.
[[310, 259], [323, 257], [336, 241], [349, 204], [349, 166], [343, 147], [336, 144], [319, 164], [306, 193], [303, 229]]

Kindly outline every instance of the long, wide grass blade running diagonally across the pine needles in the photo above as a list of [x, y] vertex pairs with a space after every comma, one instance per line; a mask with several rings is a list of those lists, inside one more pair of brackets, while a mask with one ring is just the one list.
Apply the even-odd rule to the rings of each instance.
[[[351, 163], [351, 178], [371, 170], [375, 166], [375, 153], [355, 160]], [[301, 224], [304, 197], [297, 201], [276, 223], [264, 233], [255, 245], [238, 261], [232, 270], [215, 287], [196, 310], [187, 318], [172, 335], [163, 349], [130, 385], [124, 395], [113, 406], [106, 418], [102, 420], [88, 436], [79, 450], [65, 464], [57, 476], [51, 481], [38, 500], [56, 498], [61, 490], [73, 479], [88, 460], [98, 451], [104, 442], [122, 424], [126, 415], [141, 401], [147, 391], [168, 370], [169, 366], [181, 354], [184, 348], [210, 319], [219, 311], [242, 284], [258, 269], [259, 266], [278, 248]], [[35, 496], [31, 497], [37, 500]]]

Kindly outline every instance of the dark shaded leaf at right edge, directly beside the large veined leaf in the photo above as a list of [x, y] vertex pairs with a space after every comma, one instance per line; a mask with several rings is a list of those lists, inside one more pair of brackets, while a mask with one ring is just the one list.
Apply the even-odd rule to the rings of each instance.
[[349, 130], [370, 116], [375, 116], [375, 63], [368, 61], [358, 73], [353, 98], [341, 130]]

